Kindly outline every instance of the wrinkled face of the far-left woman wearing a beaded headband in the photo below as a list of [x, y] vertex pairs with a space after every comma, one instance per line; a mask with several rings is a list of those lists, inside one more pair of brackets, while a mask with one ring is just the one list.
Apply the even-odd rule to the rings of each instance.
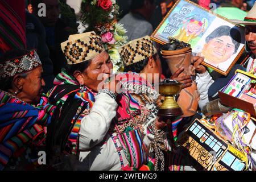
[[18, 94], [20, 99], [30, 104], [38, 104], [40, 95], [43, 93], [42, 86], [46, 85], [42, 78], [42, 72], [43, 68], [40, 66], [28, 73], [26, 78], [23, 78], [22, 90]]

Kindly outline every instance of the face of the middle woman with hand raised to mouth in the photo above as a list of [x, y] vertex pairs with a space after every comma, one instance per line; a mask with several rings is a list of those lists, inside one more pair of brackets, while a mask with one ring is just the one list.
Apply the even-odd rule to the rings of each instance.
[[84, 85], [98, 91], [98, 85], [102, 80], [111, 76], [113, 69], [112, 61], [110, 60], [108, 52], [101, 52], [92, 59], [88, 68], [82, 74], [84, 75]]

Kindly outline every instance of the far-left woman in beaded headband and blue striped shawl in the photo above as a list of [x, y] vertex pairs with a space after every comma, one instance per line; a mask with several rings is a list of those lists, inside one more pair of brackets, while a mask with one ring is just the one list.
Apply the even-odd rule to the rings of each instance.
[[6, 52], [0, 62], [1, 170], [35, 169], [27, 164], [38, 163], [35, 146], [43, 146], [43, 127], [55, 108], [42, 94], [41, 75], [42, 63], [36, 51], [15, 49]]

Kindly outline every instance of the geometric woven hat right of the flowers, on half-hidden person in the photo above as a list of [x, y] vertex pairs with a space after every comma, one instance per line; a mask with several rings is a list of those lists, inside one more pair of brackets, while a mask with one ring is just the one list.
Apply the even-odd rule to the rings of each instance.
[[118, 52], [125, 66], [142, 61], [157, 53], [150, 36], [131, 40], [125, 46], [119, 47]]

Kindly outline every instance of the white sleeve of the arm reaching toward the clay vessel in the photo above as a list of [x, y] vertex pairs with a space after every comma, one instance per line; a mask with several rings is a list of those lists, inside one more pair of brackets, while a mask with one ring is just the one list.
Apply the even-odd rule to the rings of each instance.
[[209, 72], [206, 71], [205, 73], [197, 74], [195, 81], [197, 85], [197, 90], [200, 94], [200, 101], [198, 102], [198, 104], [200, 109], [202, 109], [204, 105], [209, 102], [208, 89], [210, 85], [213, 84], [214, 80], [210, 76]]

